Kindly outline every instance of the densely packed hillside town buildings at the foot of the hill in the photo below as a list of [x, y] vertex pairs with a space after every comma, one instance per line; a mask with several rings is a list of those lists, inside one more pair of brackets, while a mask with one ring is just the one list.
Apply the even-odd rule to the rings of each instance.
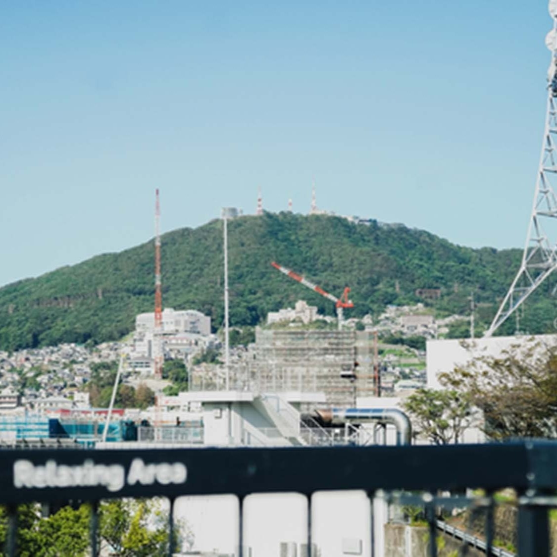
[[[44, 413], [56, 409], [90, 408], [87, 383], [91, 379], [91, 369], [102, 362], [117, 363], [122, 354], [125, 355], [125, 383], [138, 385], [152, 382], [153, 319], [153, 313], [138, 315], [134, 333], [120, 342], [91, 347], [61, 344], [13, 353], [0, 352], [0, 411], [25, 409]], [[464, 319], [466, 317], [455, 315], [438, 320], [422, 304], [388, 306], [377, 321], [369, 315], [361, 320], [347, 319], [343, 328], [344, 331], [360, 335], [378, 331], [383, 392], [400, 394], [426, 384], [424, 349], [411, 348], [400, 339], [438, 338], [447, 333], [450, 323]], [[267, 324], [255, 331], [253, 342], [231, 347], [231, 367], [237, 370], [239, 379], [242, 369], [250, 367], [261, 351], [265, 331], [296, 331], [300, 326], [307, 326], [307, 330], [311, 331], [311, 326], [334, 325], [335, 322], [334, 317], [320, 315], [316, 306], [310, 306], [304, 300], [298, 301], [294, 309], [270, 312]], [[383, 339], [389, 337], [398, 338], [400, 344], [385, 344]], [[367, 342], [370, 344], [369, 350], [372, 350], [373, 339], [369, 335]], [[189, 372], [190, 389], [218, 387], [224, 359], [223, 343], [220, 335], [211, 332], [211, 319], [208, 316], [195, 310], [165, 309], [163, 347], [165, 360], [184, 362]], [[326, 354], [326, 348], [324, 350], [322, 358], [325, 362], [330, 356]], [[207, 353], [214, 354], [214, 361], [203, 358]], [[364, 364], [362, 361], [360, 365], [363, 367]]]

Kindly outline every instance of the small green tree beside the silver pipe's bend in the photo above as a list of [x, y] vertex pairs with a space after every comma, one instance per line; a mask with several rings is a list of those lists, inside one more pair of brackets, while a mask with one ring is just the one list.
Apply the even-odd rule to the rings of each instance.
[[470, 398], [457, 390], [418, 389], [405, 399], [418, 432], [436, 445], [458, 443], [471, 423]]

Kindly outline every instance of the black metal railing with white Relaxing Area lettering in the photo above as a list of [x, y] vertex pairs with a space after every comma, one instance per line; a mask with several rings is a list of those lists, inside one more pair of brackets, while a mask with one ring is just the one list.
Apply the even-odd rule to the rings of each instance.
[[[14, 449], [0, 451], [0, 459], [0, 504], [8, 509], [8, 555], [17, 555], [17, 505], [26, 502], [90, 502], [91, 553], [97, 555], [96, 509], [101, 499], [167, 497], [171, 509], [168, 551], [172, 555], [174, 500], [185, 495], [233, 494], [239, 501], [240, 557], [242, 502], [251, 494], [297, 492], [307, 497], [308, 554], [314, 547], [311, 496], [318, 491], [363, 490], [371, 502], [381, 490], [397, 505], [422, 506], [432, 557], [438, 554], [441, 507], [463, 507], [471, 502], [481, 506], [485, 510], [484, 549], [487, 554], [497, 554], [492, 550], [493, 494], [513, 488], [518, 509], [517, 552], [520, 557], [544, 557], [550, 551], [548, 510], [557, 506], [555, 442], [444, 447]], [[463, 495], [469, 488], [482, 490], [476, 502]], [[372, 511], [372, 557], [373, 530]]]

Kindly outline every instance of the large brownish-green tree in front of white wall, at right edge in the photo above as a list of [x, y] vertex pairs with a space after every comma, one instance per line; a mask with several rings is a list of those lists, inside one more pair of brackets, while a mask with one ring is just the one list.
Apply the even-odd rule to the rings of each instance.
[[481, 356], [440, 380], [470, 398], [494, 439], [557, 437], [557, 347], [533, 341]]

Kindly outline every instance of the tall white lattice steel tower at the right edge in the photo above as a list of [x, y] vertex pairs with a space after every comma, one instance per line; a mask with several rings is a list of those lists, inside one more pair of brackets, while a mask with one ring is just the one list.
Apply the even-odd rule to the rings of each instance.
[[549, 13], [553, 18], [553, 30], [545, 38], [551, 51], [548, 104], [530, 226], [520, 269], [484, 336], [494, 334], [557, 268], [557, 198], [553, 188], [557, 180], [557, 0], [550, 0]]

